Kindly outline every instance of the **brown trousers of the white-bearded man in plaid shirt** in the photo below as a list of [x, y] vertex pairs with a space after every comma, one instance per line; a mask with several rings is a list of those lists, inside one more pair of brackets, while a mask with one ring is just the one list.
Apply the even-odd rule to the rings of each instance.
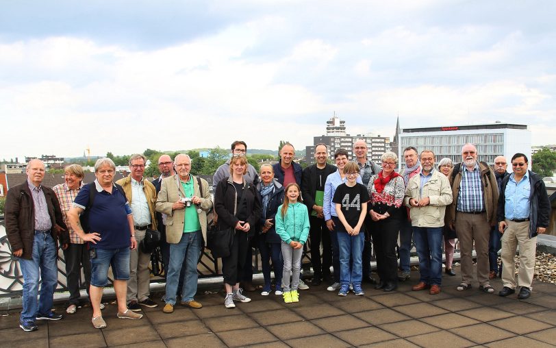
[[462, 283], [470, 285], [473, 279], [472, 252], [473, 240], [475, 240], [477, 280], [479, 285], [482, 286], [490, 284], [488, 281], [488, 240], [490, 239], [491, 228], [485, 212], [483, 214], [455, 213], [455, 232], [459, 239], [459, 251], [461, 253]]

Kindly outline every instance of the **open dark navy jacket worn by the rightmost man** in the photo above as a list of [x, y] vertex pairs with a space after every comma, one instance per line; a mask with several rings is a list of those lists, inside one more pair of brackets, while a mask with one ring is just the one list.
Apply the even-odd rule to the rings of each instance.
[[[548, 200], [548, 193], [542, 178], [532, 171], [529, 173], [529, 182], [531, 183], [531, 197], [529, 197], [529, 238], [537, 236], [537, 227], [548, 227], [548, 221], [551, 215], [551, 203]], [[500, 196], [498, 196], [498, 222], [505, 219], [505, 191], [509, 181], [509, 175], [502, 182]]]

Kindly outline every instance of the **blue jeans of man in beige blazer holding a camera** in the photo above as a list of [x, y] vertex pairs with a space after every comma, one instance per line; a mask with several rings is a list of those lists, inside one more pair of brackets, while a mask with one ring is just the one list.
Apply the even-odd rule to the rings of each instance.
[[186, 271], [183, 275], [184, 285], [181, 286], [181, 301], [192, 301], [197, 293], [197, 261], [201, 255], [201, 231], [182, 234], [179, 243], [170, 244], [170, 264], [166, 276], [166, 298], [164, 301], [172, 306], [176, 304], [177, 286], [181, 264], [186, 260]]

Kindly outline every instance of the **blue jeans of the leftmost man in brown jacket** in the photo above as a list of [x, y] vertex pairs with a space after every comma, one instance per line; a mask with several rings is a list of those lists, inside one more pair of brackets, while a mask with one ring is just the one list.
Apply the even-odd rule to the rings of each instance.
[[[19, 268], [23, 273], [23, 297], [19, 321], [35, 322], [37, 314], [47, 314], [52, 308], [54, 290], [58, 282], [58, 266], [56, 266], [56, 245], [50, 231], [36, 232], [33, 240], [31, 260], [19, 259]], [[37, 301], [39, 275], [40, 299]]]

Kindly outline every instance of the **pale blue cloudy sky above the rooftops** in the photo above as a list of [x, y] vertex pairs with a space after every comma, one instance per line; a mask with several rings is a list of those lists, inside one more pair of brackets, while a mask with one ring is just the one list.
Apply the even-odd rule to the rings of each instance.
[[529, 125], [556, 144], [556, 1], [0, 2], [0, 160], [297, 150], [349, 134]]

